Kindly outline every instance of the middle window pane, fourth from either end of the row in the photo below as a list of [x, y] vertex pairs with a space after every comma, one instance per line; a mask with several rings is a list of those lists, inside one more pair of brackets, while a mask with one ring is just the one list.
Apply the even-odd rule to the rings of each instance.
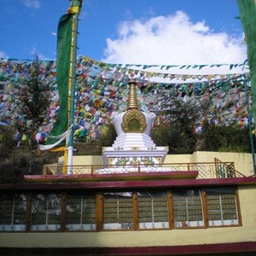
[[133, 229], [132, 194], [103, 194], [103, 230]]

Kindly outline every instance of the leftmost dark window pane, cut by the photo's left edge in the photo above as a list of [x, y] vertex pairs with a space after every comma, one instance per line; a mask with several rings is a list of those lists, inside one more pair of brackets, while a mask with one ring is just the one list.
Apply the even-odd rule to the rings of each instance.
[[0, 231], [26, 230], [26, 195], [1, 195]]

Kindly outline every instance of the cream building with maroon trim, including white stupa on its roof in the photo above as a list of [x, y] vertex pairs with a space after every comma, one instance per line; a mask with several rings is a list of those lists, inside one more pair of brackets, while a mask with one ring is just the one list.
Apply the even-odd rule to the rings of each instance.
[[113, 117], [118, 137], [102, 156], [0, 184], [4, 255], [256, 253], [252, 155], [168, 155], [129, 84], [127, 108]]

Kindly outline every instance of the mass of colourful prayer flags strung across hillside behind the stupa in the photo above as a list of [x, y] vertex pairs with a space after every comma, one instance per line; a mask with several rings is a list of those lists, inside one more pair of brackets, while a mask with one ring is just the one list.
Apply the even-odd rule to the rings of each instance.
[[[3, 84], [5, 91], [3, 97], [0, 96], [0, 122], [4, 124], [19, 124], [26, 129], [23, 116], [17, 112], [15, 97], [10, 92], [19, 90], [20, 83], [26, 80], [30, 73], [31, 63], [32, 61], [0, 61], [2, 68], [0, 83]], [[156, 125], [165, 119], [161, 112], [172, 107], [172, 99], [180, 98], [183, 101], [193, 99], [196, 102], [211, 100], [209, 113], [205, 117], [211, 123], [247, 127], [245, 84], [250, 81], [247, 61], [229, 64], [232, 67], [230, 73], [194, 75], [185, 72], [167, 75], [165, 70], [163, 70], [165, 73], [149, 73], [147, 69], [136, 70], [132, 69], [131, 64], [127, 65], [104, 63], [83, 55], [77, 58], [74, 130], [85, 129], [88, 138], [95, 137], [96, 128], [101, 131], [105, 125], [108, 125], [113, 112], [125, 109], [127, 77], [131, 73], [137, 79], [139, 101], [144, 102], [149, 111], [157, 113]], [[146, 65], [144, 66], [146, 68]], [[241, 67], [241, 72], [234, 72], [234, 67]], [[40, 73], [45, 83], [49, 84], [51, 99], [40, 131], [49, 134], [60, 111], [55, 61], [40, 61]], [[160, 82], [154, 81], [154, 78]], [[251, 86], [248, 86], [247, 90], [248, 105], [251, 106], [253, 102]], [[143, 106], [142, 109], [147, 111]], [[75, 134], [78, 132], [76, 131]], [[63, 141], [62, 144], [66, 146]], [[55, 150], [57, 148], [55, 147]]]

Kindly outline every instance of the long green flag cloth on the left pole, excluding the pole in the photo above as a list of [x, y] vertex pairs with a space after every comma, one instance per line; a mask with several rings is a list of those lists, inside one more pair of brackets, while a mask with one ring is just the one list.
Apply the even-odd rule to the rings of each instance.
[[[68, 130], [68, 82], [71, 60], [73, 15], [62, 15], [59, 21], [57, 33], [57, 61], [56, 81], [59, 92], [59, 109], [53, 129], [49, 132], [46, 143], [41, 150], [48, 150], [65, 145], [65, 137], [61, 140], [58, 136], [66, 135]], [[61, 149], [61, 148], [60, 148]]]

